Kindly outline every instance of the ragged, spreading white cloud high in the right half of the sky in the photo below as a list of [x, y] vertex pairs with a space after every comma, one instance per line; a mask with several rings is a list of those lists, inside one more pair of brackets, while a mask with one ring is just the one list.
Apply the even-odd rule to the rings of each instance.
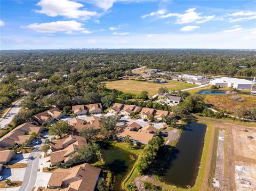
[[[179, 13], [167, 13], [158, 16], [159, 19], [169, 18], [172, 16], [177, 17], [176, 24], [186, 24], [190, 22], [204, 23], [215, 18], [215, 15], [201, 16], [202, 13], [195, 12], [196, 8], [190, 8], [185, 11], [184, 14]], [[154, 16], [154, 15], [152, 15]]]

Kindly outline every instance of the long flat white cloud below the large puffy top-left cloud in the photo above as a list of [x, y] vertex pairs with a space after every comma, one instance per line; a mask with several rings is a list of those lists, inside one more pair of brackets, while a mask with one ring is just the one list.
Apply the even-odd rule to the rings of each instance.
[[72, 31], [85, 31], [82, 25], [82, 23], [76, 21], [56, 21], [41, 24], [33, 23], [29, 24], [27, 28], [33, 29], [37, 32], [67, 32], [68, 34], [71, 34]]

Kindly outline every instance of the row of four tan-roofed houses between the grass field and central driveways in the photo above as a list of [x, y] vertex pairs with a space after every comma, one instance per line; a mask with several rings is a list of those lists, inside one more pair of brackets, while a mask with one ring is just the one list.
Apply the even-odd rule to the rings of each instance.
[[117, 113], [121, 115], [130, 116], [131, 113], [139, 114], [141, 119], [148, 119], [148, 117], [154, 117], [155, 120], [163, 120], [169, 115], [169, 111], [155, 110], [148, 107], [139, 107], [135, 105], [125, 105], [120, 103], [114, 103], [109, 109], [111, 113]]

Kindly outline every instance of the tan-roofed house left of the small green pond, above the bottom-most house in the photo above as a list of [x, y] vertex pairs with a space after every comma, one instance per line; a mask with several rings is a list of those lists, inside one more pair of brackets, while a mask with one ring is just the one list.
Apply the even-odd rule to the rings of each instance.
[[72, 155], [78, 148], [87, 145], [86, 139], [77, 135], [70, 135], [67, 138], [53, 140], [51, 142], [51, 165], [57, 163], [75, 163]]

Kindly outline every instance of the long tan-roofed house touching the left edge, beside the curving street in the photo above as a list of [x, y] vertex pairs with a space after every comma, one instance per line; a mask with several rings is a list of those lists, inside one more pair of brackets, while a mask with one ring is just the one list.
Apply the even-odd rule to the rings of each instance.
[[25, 143], [25, 140], [32, 141], [35, 137], [30, 136], [31, 132], [36, 132], [39, 134], [43, 130], [43, 127], [35, 126], [32, 123], [26, 122], [20, 124], [17, 128], [11, 130], [6, 135], [0, 138], [1, 147], [9, 147], [15, 145], [22, 145]]

